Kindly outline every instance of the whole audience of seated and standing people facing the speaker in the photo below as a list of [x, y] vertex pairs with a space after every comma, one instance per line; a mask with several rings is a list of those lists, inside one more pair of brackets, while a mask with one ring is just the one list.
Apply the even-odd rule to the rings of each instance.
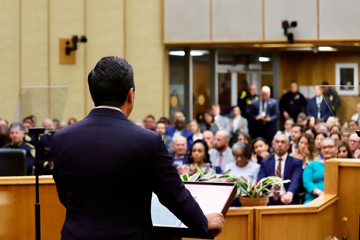
[[[269, 87], [263, 86], [257, 95], [255, 85], [250, 85], [239, 93], [238, 105], [230, 113], [214, 104], [188, 123], [182, 112], [175, 112], [171, 123], [166, 117], [156, 122], [152, 115], [134, 123], [161, 135], [179, 174], [193, 175], [199, 166], [204, 173], [230, 170], [229, 175], [257, 181], [278, 176], [291, 182], [284, 184], [279, 194], [269, 195], [269, 205], [308, 203], [324, 194], [325, 160], [360, 157], [360, 137], [355, 133], [360, 104], [357, 113], [341, 125], [334, 117], [339, 108], [336, 92], [319, 85], [314, 90], [315, 97], [306, 101], [293, 82], [291, 91], [278, 102], [270, 97]], [[277, 128], [280, 118], [283, 130]], [[70, 119], [68, 124], [73, 122], [76, 120]], [[53, 169], [53, 133], [49, 130], [66, 125], [44, 119], [42, 126], [48, 131], [39, 141], [41, 174], [51, 174]], [[35, 153], [34, 136], [27, 131], [35, 126], [33, 116], [9, 127], [0, 119], [0, 145], [27, 150], [28, 175], [33, 175]], [[305, 199], [300, 193], [305, 193]]]

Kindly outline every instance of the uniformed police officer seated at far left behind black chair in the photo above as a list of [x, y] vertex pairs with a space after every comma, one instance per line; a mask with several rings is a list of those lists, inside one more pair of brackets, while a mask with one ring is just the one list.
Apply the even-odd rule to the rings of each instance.
[[20, 148], [26, 150], [27, 175], [33, 175], [33, 166], [35, 164], [35, 147], [24, 141], [24, 132], [22, 124], [13, 123], [10, 125], [11, 142], [3, 146], [3, 148]]

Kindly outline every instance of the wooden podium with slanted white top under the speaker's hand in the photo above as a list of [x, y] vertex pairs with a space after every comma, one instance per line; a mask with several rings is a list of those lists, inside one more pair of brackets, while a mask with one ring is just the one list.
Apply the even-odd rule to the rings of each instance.
[[[237, 192], [235, 183], [227, 182], [184, 182], [185, 187], [190, 191], [204, 214], [222, 213], [225, 217], [231, 202]], [[164, 213], [166, 214], [166, 213]], [[156, 221], [153, 219], [153, 222]], [[208, 230], [208, 233], [194, 231], [186, 227], [183, 223], [180, 226], [155, 225], [155, 232], [159, 239], [177, 240], [182, 237], [197, 239], [214, 239], [217, 234], [216, 229]]]

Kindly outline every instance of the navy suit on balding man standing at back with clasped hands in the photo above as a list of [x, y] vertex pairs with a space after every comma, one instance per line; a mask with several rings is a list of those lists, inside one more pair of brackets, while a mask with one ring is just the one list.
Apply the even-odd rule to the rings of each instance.
[[279, 104], [274, 98], [267, 100], [266, 115], [270, 116], [270, 122], [263, 122], [255, 120], [259, 115], [260, 103], [262, 103], [262, 99], [253, 100], [249, 109], [249, 134], [252, 139], [264, 137], [270, 145], [277, 131], [276, 123], [280, 115]]

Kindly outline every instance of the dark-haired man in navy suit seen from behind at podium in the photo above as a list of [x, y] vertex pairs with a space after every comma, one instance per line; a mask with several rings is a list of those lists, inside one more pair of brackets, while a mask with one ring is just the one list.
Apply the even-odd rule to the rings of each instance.
[[189, 228], [221, 232], [222, 214], [203, 214], [160, 134], [127, 119], [135, 97], [131, 65], [102, 58], [88, 83], [96, 108], [53, 137], [53, 177], [66, 207], [62, 239], [156, 239], [152, 192]]

